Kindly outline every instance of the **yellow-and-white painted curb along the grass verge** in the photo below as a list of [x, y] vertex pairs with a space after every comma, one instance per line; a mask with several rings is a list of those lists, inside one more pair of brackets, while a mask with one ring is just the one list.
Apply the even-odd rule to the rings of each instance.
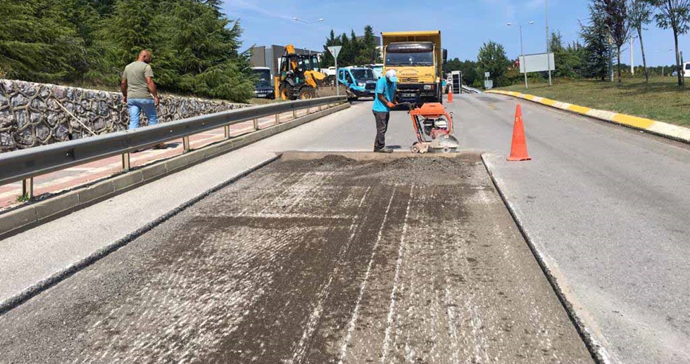
[[539, 103], [541, 105], [546, 105], [551, 108], [565, 110], [567, 112], [573, 112], [575, 114], [583, 115], [586, 117], [594, 117], [594, 119], [603, 120], [604, 122], [610, 122], [613, 124], [627, 126], [632, 129], [646, 131], [648, 133], [663, 136], [664, 138], [680, 141], [682, 143], [690, 143], [690, 128], [685, 128], [683, 126], [677, 126], [665, 122], [657, 122], [652, 119], [645, 119], [644, 117], [636, 117], [632, 115], [619, 114], [617, 112], [610, 112], [606, 110], [586, 108], [584, 106], [573, 105], [570, 103], [562, 103], [560, 101], [551, 100], [540, 96], [528, 95], [526, 93], [520, 92], [491, 90], [485, 91], [484, 93], [497, 93], [499, 95], [522, 98], [523, 100], [529, 100], [533, 103]]

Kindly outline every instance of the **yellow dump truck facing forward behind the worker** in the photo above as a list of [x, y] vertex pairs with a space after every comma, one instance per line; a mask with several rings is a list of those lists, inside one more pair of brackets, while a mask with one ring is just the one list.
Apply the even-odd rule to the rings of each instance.
[[408, 103], [442, 103], [443, 64], [441, 31], [383, 32], [384, 72], [398, 73], [398, 100]]

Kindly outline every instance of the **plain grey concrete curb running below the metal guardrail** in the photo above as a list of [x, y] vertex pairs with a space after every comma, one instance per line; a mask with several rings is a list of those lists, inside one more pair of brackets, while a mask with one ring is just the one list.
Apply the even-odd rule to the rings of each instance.
[[255, 131], [244, 136], [207, 145], [199, 150], [192, 150], [168, 160], [156, 162], [139, 169], [133, 169], [127, 173], [118, 174], [104, 181], [94, 183], [91, 186], [77, 188], [68, 193], [49, 197], [46, 200], [28, 204], [27, 206], [0, 214], [0, 240], [30, 228], [35, 228], [42, 223], [58, 219], [61, 216], [65, 216], [97, 202], [107, 200], [115, 195], [127, 192], [132, 188], [137, 188], [146, 183], [156, 181], [163, 176], [168, 176], [182, 169], [192, 167], [194, 164], [210, 160], [218, 155], [237, 150], [251, 143], [279, 134], [282, 131], [312, 122], [315, 119], [320, 119], [321, 117], [345, 110], [349, 107], [349, 103], [343, 103], [333, 108], [328, 108], [320, 112], [300, 117], [299, 119], [270, 126], [266, 129]]

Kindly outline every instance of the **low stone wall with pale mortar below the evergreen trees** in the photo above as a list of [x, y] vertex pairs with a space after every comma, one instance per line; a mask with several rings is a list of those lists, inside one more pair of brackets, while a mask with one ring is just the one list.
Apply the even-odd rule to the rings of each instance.
[[[158, 122], [246, 106], [249, 105], [161, 96]], [[0, 79], [0, 152], [92, 136], [82, 124], [96, 134], [106, 134], [126, 130], [129, 123], [120, 93]]]

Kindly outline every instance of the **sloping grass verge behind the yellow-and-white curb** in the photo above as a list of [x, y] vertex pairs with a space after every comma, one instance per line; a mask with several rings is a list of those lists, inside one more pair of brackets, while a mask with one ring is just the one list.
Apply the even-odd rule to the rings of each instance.
[[690, 126], [690, 89], [677, 86], [675, 77], [653, 77], [648, 84], [644, 79], [628, 78], [620, 85], [594, 80], [554, 80], [553, 86], [533, 83], [528, 90], [525, 85], [499, 89]]

